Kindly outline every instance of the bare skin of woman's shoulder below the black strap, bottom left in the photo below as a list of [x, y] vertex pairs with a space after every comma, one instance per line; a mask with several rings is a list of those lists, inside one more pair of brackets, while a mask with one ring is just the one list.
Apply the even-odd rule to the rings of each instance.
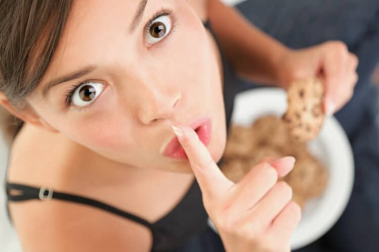
[[148, 228], [86, 205], [63, 201], [11, 203], [27, 251], [149, 251]]

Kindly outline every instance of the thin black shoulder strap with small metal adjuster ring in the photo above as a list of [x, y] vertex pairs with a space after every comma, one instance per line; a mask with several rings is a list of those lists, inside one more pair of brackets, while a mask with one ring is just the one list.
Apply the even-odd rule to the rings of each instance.
[[[135, 216], [133, 214], [124, 212], [118, 208], [112, 207], [108, 204], [105, 204], [103, 202], [92, 200], [89, 198], [84, 198], [81, 196], [76, 196], [72, 194], [66, 194], [62, 192], [53, 191], [51, 188], [48, 187], [33, 187], [29, 185], [24, 184], [18, 184], [18, 183], [6, 183], [6, 189], [7, 189], [7, 196], [9, 201], [13, 202], [19, 202], [19, 201], [28, 201], [28, 200], [52, 200], [57, 199], [61, 201], [69, 201], [69, 202], [75, 202], [79, 204], [89, 205], [93, 206], [102, 210], [105, 210], [107, 212], [110, 212], [112, 214], [116, 214], [118, 216], [121, 216], [123, 218], [135, 221], [141, 225], [144, 225], [152, 230], [152, 224], [144, 219], [141, 219], [138, 216]], [[11, 195], [10, 190], [18, 190], [21, 194], [17, 195]]]

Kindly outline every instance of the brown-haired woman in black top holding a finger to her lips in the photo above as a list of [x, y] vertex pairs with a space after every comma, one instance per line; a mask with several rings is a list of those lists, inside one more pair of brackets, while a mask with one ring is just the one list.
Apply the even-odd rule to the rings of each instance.
[[[215, 164], [234, 73], [283, 88], [319, 76], [330, 114], [357, 81], [342, 42], [291, 50], [217, 0], [0, 10], [1, 103], [24, 122], [8, 195], [25, 250], [289, 251], [300, 210], [277, 177], [295, 160], [262, 162], [238, 184]], [[197, 247], [186, 242], [199, 233]]]

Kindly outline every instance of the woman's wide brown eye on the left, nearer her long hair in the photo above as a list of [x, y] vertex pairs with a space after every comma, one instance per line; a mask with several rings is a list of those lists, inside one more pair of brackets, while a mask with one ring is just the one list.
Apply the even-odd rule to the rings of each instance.
[[84, 107], [93, 102], [103, 91], [104, 84], [88, 82], [79, 86], [72, 95], [72, 103], [76, 106]]

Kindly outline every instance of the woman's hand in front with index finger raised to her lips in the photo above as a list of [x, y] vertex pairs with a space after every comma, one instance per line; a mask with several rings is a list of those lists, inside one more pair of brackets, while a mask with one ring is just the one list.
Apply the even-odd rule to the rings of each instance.
[[262, 162], [239, 182], [228, 180], [197, 134], [173, 127], [200, 185], [203, 203], [227, 252], [289, 252], [301, 209], [292, 189], [278, 176], [289, 173], [295, 159]]

